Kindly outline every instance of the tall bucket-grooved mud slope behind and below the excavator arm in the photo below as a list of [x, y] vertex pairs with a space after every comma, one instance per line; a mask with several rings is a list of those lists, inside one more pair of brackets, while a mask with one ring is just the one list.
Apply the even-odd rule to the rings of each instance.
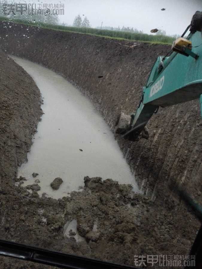
[[[121, 111], [135, 111], [158, 55], [170, 46], [122, 42], [90, 35], [15, 25], [0, 25], [1, 47], [42, 64], [77, 85], [114, 130]], [[99, 76], [103, 76], [98, 78]], [[202, 169], [199, 101], [160, 109], [148, 124], [150, 138], [119, 145], [139, 185], [164, 195], [173, 182], [189, 184]], [[191, 185], [190, 185], [191, 186]]]

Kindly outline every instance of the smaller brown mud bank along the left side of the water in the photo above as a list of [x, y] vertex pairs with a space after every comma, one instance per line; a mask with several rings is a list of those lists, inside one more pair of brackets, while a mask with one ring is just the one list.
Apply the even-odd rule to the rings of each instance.
[[27, 160], [32, 136], [42, 116], [42, 100], [34, 80], [2, 51], [0, 70], [0, 177], [3, 193], [4, 187], [13, 185], [17, 166]]

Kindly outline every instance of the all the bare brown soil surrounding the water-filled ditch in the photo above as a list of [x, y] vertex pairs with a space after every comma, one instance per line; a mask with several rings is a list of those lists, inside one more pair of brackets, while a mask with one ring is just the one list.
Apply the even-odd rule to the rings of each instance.
[[[154, 60], [168, 51], [164, 45], [136, 42], [131, 47], [132, 42], [10, 26], [0, 25], [1, 48], [72, 81], [112, 130], [121, 111], [134, 111]], [[12, 59], [3, 52], [0, 58], [0, 238], [132, 266], [134, 255], [188, 254], [200, 224], [172, 190], [182, 183], [201, 203], [198, 101], [160, 109], [148, 125], [148, 140], [127, 142], [116, 137], [147, 196], [133, 193], [130, 185], [85, 177], [81, 192], [59, 200], [39, 198], [37, 192], [14, 183], [19, 181], [17, 165], [26, 161], [42, 115], [40, 92]], [[64, 224], [73, 219], [86, 241], [77, 243], [63, 235]], [[0, 267], [51, 268], [4, 257]]]

